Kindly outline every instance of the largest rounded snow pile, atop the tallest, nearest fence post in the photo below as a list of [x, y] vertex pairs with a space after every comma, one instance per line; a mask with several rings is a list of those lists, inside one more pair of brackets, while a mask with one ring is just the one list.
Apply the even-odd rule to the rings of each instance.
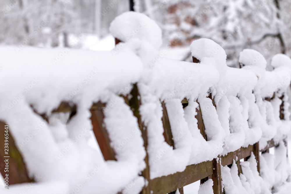
[[138, 38], [147, 40], [157, 49], [162, 45], [162, 30], [142, 13], [129, 11], [119, 15], [111, 22], [109, 31], [123, 42]]

